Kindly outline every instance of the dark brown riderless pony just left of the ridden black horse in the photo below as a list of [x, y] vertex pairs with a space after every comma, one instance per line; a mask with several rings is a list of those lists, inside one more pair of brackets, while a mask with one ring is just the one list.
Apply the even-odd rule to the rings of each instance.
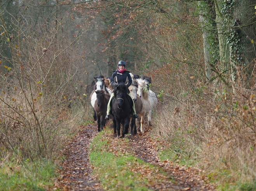
[[104, 90], [95, 90], [97, 99], [94, 103], [94, 111], [96, 113], [97, 122], [98, 122], [98, 132], [103, 130], [105, 126], [107, 114], [108, 101], [110, 99], [109, 94], [105, 94]]

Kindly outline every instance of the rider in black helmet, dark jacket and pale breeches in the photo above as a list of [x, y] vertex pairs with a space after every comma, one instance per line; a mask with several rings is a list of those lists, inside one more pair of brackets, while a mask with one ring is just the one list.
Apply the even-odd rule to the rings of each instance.
[[[125, 85], [127, 85], [127, 87], [129, 87], [132, 84], [132, 78], [131, 78], [131, 75], [129, 73], [130, 72], [126, 71], [125, 61], [120, 60], [118, 62], [118, 69], [112, 74], [112, 76], [110, 78], [111, 85], [115, 88], [117, 86], [117, 83], [115, 81], [117, 81], [118, 83], [125, 83], [126, 80], [128, 79], [128, 83], [125, 84]], [[131, 94], [129, 93], [128, 95], [132, 99]], [[114, 96], [114, 93], [111, 94], [110, 100], [108, 101], [107, 115], [106, 115], [105, 119], [109, 119], [110, 118], [110, 116], [109, 116], [110, 109], [111, 109], [110, 108], [110, 102], [111, 102], [111, 99], [112, 99], [113, 96]], [[133, 99], [132, 99], [132, 102], [133, 102]], [[133, 118], [134, 119], [138, 118], [139, 116], [136, 114], [134, 102], [133, 102], [132, 109], [133, 109]]]

